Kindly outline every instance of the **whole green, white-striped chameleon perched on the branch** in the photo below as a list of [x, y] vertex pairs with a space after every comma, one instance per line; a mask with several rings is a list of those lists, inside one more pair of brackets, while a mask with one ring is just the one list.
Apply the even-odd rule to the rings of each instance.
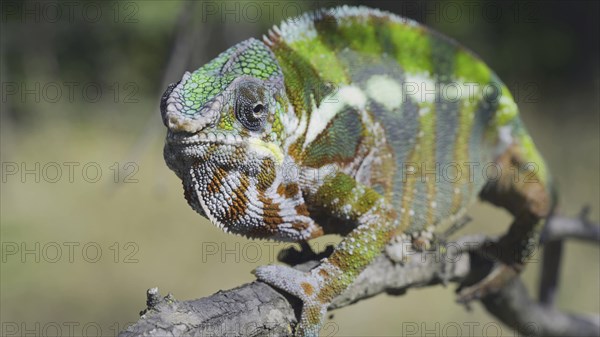
[[489, 243], [499, 263], [459, 296], [493, 293], [523, 268], [556, 200], [498, 76], [378, 9], [321, 9], [242, 41], [171, 84], [161, 115], [167, 166], [214, 225], [288, 242], [342, 236], [308, 272], [253, 272], [302, 300], [297, 336], [318, 335], [328, 305], [394, 238], [428, 237], [477, 198], [514, 219]]

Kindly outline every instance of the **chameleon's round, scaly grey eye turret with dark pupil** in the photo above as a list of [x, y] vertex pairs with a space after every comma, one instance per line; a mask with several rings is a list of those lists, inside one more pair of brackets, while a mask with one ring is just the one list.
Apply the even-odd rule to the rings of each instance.
[[267, 117], [267, 106], [263, 100], [264, 89], [259, 83], [245, 81], [238, 85], [235, 117], [250, 131], [260, 131]]

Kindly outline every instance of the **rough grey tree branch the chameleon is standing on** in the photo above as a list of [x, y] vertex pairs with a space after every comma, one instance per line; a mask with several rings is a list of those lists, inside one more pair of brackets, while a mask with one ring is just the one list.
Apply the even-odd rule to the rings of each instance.
[[[554, 218], [544, 233], [552, 241], [580, 237], [572, 233], [593, 233], [593, 226], [582, 219]], [[551, 224], [551, 225], [550, 225]], [[565, 230], [563, 226], [571, 228]], [[382, 254], [361, 273], [354, 284], [337, 297], [330, 310], [356, 303], [380, 293], [401, 295], [409, 288], [461, 282], [481, 263], [474, 250], [485, 236], [465, 236], [455, 242], [438, 245], [424, 252], [408, 251], [406, 263], [393, 261]], [[598, 242], [598, 241], [595, 241]], [[404, 249], [398, 242], [390, 249]], [[406, 253], [405, 253], [406, 255]], [[317, 262], [296, 266], [308, 270]], [[293, 296], [262, 282], [188, 301], [178, 301], [171, 294], [161, 297], [157, 288], [148, 290], [147, 309], [140, 320], [119, 336], [236, 336], [290, 335], [297, 323], [302, 303]], [[530, 299], [522, 282], [516, 278], [500, 292], [482, 299], [486, 309], [500, 321], [525, 335], [533, 336], [597, 336], [600, 316], [566, 314]]]

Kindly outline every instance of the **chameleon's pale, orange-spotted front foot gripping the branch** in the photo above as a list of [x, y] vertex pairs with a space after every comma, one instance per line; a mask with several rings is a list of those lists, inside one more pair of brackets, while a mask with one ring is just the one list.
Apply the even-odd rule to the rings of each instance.
[[287, 266], [268, 265], [256, 268], [253, 273], [260, 281], [302, 300], [302, 313], [295, 336], [319, 335], [329, 303], [319, 300], [317, 295], [321, 286], [311, 272], [305, 273]]

